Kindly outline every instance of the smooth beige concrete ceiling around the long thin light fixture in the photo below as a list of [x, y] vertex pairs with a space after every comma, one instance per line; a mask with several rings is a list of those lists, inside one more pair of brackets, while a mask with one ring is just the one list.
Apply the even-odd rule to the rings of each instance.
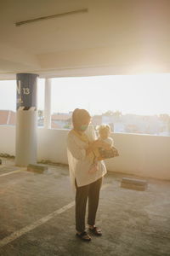
[[0, 79], [170, 73], [169, 45], [169, 0], [0, 0]]

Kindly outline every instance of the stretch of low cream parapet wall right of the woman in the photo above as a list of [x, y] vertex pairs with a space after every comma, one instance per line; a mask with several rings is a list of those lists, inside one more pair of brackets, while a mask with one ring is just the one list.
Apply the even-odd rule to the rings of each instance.
[[114, 134], [120, 156], [106, 160], [108, 170], [170, 179], [170, 137]]

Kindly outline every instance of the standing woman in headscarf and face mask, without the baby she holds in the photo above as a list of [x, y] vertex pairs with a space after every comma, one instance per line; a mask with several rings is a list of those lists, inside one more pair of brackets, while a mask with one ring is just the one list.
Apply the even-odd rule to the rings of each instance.
[[[96, 148], [105, 148], [105, 142], [94, 140], [89, 143], [85, 131], [91, 117], [85, 109], [75, 109], [72, 113], [73, 129], [67, 137], [67, 154], [71, 182], [76, 187], [76, 229], [77, 236], [84, 241], [91, 241], [85, 231], [85, 213], [88, 201], [88, 230], [95, 236], [101, 236], [102, 231], [95, 226], [95, 217], [99, 205], [99, 190], [102, 177], [106, 173], [102, 160], [94, 166], [93, 151]], [[106, 147], [108, 145], [106, 144]], [[93, 169], [93, 172], [91, 172]]]

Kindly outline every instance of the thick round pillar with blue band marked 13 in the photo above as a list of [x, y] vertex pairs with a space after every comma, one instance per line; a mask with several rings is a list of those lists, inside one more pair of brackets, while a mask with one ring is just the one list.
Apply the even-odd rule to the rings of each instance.
[[37, 74], [17, 73], [16, 166], [37, 163]]

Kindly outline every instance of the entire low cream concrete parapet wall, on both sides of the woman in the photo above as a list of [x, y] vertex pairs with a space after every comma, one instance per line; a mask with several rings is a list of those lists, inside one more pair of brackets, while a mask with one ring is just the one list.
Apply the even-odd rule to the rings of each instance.
[[[67, 163], [65, 130], [37, 130], [37, 159]], [[112, 172], [170, 179], [170, 137], [112, 134], [120, 156], [106, 160]], [[0, 153], [15, 154], [15, 127], [0, 126]]]

